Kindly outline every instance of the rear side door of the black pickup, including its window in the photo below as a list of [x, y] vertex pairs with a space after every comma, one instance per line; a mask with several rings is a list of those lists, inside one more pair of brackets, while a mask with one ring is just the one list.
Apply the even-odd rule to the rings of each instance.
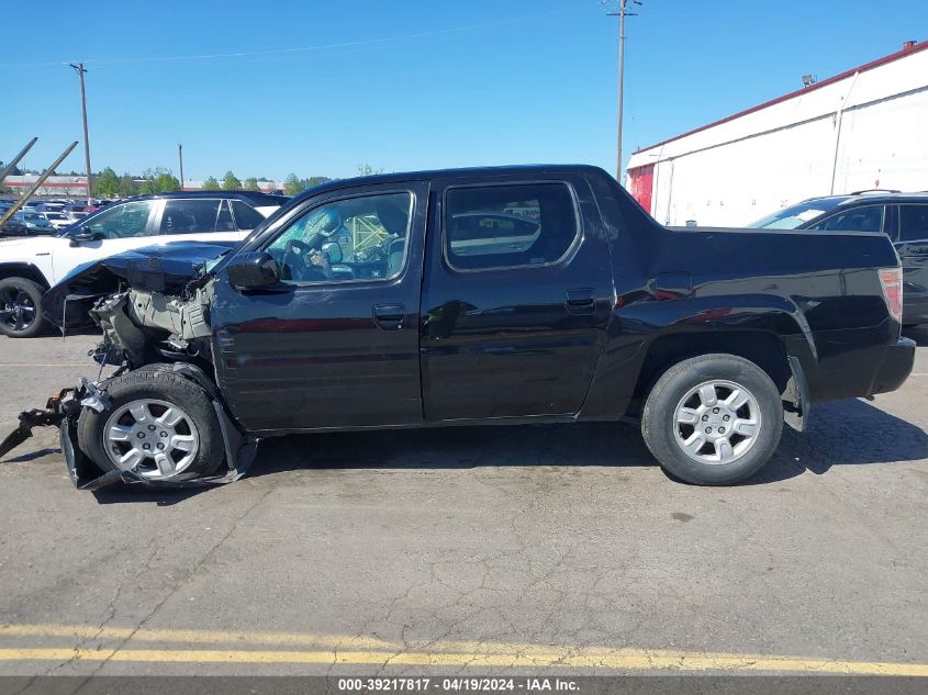
[[432, 195], [425, 419], [579, 412], [613, 302], [610, 249], [585, 180], [456, 179]]

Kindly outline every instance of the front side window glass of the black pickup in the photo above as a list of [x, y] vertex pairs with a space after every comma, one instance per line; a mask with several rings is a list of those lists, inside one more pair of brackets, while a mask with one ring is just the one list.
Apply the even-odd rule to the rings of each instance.
[[267, 247], [290, 284], [389, 280], [406, 255], [412, 194], [362, 195], [313, 208]]

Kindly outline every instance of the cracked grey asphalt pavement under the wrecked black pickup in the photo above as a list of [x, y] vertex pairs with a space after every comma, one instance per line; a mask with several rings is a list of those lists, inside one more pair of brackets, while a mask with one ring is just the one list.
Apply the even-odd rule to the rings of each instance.
[[[0, 673], [928, 675], [928, 332], [736, 487], [584, 424], [292, 436], [198, 491], [0, 461]], [[96, 337], [0, 338], [2, 434]]]

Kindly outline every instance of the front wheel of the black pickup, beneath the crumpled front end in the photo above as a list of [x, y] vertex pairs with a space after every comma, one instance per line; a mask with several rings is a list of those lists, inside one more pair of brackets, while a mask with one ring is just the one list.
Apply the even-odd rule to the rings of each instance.
[[103, 471], [135, 470], [152, 481], [211, 475], [225, 459], [213, 404], [198, 384], [159, 367], [108, 381], [111, 407], [81, 411], [78, 445]]

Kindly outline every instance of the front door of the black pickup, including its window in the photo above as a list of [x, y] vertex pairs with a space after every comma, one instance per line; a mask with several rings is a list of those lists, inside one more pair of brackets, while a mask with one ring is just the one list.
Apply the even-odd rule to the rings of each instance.
[[[309, 199], [243, 248], [273, 256], [281, 282], [242, 291], [219, 273], [211, 312], [216, 375], [246, 428], [422, 422], [427, 190], [424, 182], [393, 183]], [[339, 224], [325, 228], [331, 236], [321, 235], [321, 221], [336, 214]], [[336, 228], [353, 237], [349, 259], [332, 246]]]

